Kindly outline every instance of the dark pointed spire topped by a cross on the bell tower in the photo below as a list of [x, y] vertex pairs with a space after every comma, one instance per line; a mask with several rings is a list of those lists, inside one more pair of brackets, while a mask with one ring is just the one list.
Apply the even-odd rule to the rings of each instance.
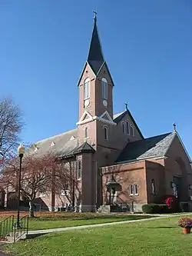
[[97, 75], [101, 65], [104, 63], [104, 56], [102, 54], [101, 42], [98, 35], [97, 27], [97, 12], [94, 11], [94, 29], [91, 36], [91, 44], [88, 52], [88, 64]]

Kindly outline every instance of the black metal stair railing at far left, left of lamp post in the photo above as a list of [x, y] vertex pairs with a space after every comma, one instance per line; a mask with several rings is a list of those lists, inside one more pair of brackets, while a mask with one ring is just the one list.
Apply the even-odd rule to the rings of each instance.
[[13, 232], [14, 215], [8, 216], [0, 223], [0, 240], [6, 240], [8, 234]]

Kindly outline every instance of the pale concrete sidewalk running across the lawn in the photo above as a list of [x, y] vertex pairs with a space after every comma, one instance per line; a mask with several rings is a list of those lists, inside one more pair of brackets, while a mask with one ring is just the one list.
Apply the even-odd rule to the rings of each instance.
[[173, 218], [173, 217], [179, 217], [179, 216], [186, 216], [186, 215], [190, 215], [190, 214], [192, 214], [192, 213], [173, 214], [173, 215], [165, 215], [164, 214], [161, 216], [156, 215], [158, 217], [141, 218], [140, 220], [116, 221], [116, 222], [108, 222], [108, 223], [101, 223], [101, 224], [88, 224], [88, 225], [83, 225], [83, 226], [74, 226], [74, 227], [66, 227], [66, 228], [41, 229], [41, 230], [36, 230], [36, 231], [28, 231], [28, 234], [27, 235], [24, 234], [21, 239], [35, 238], [39, 235], [53, 233], [53, 232], [73, 231], [73, 230], [85, 229], [85, 228], [101, 228], [101, 227], [112, 226], [112, 225], [116, 225], [116, 224], [127, 224], [127, 223], [133, 223], [133, 222], [153, 221], [153, 220], [157, 220], [157, 219], [161, 219], [161, 218]]

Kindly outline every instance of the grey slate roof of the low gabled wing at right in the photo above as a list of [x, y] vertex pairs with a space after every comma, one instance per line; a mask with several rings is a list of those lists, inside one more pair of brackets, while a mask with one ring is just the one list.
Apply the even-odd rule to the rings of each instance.
[[116, 163], [134, 161], [137, 158], [162, 157], [167, 153], [176, 133], [166, 133], [127, 143]]

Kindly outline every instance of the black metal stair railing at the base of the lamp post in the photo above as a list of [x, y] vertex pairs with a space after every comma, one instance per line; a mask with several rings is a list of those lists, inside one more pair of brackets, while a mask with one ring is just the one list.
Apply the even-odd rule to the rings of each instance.
[[28, 234], [28, 215], [25, 215], [19, 220], [19, 228], [14, 225], [14, 242], [22, 237], [23, 234]]

